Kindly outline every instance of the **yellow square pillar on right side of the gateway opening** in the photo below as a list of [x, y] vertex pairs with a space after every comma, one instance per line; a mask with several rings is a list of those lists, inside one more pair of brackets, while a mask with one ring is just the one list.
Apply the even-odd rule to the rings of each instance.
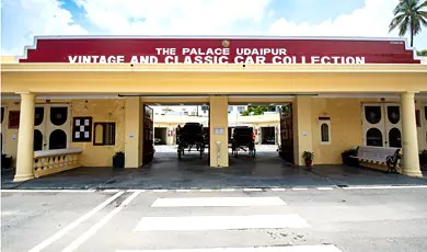
[[[313, 151], [313, 130], [311, 128], [311, 98], [297, 96], [292, 105], [293, 116], [293, 160], [297, 165], [305, 165], [304, 151]], [[315, 157], [315, 153], [314, 153]], [[313, 162], [315, 161], [315, 158]]]

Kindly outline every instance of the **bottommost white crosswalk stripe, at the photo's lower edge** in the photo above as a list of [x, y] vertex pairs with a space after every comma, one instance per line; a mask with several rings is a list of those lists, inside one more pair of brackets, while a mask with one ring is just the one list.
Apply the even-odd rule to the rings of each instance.
[[116, 250], [116, 252], [342, 252], [335, 245], [286, 245], [256, 248], [212, 248], [175, 250]]

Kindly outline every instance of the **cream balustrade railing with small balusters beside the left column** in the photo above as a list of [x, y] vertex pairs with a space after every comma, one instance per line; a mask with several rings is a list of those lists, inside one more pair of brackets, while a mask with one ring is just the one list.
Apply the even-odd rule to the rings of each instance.
[[80, 148], [34, 151], [34, 176], [39, 177], [80, 167]]

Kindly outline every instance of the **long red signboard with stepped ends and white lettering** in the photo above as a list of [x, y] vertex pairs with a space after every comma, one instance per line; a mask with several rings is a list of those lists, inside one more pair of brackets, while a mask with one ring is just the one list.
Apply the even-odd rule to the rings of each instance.
[[394, 38], [38, 37], [20, 62], [420, 64]]

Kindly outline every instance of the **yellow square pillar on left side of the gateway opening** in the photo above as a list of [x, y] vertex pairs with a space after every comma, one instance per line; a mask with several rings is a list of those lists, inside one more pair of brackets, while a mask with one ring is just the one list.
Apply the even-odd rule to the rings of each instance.
[[142, 110], [139, 98], [126, 98], [125, 114], [125, 168], [142, 164]]

